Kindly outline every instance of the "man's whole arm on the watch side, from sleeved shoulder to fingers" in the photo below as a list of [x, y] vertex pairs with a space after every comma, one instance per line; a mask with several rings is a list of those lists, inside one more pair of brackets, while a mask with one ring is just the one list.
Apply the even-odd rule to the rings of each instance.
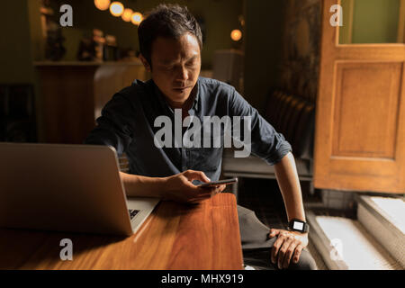
[[[275, 166], [275, 176], [283, 194], [288, 220], [305, 220], [301, 186], [290, 143], [235, 90], [229, 96], [229, 114], [252, 117], [251, 151], [268, 165]], [[292, 259], [297, 263], [303, 247], [308, 245], [308, 233], [271, 229], [269, 236], [277, 236], [271, 260], [273, 263], [277, 261], [280, 268], [288, 267]]]

